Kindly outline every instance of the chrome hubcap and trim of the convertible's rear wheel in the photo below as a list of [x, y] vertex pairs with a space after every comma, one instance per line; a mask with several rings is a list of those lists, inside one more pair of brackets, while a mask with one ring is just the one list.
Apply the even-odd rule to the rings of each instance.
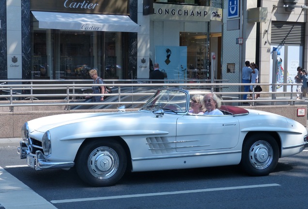
[[268, 167], [273, 161], [273, 148], [267, 141], [257, 141], [249, 149], [249, 162], [257, 169]]

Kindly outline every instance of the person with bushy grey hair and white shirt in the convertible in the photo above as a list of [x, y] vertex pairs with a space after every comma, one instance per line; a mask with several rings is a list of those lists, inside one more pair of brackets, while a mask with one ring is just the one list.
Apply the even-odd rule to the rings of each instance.
[[221, 101], [216, 96], [216, 94], [205, 94], [202, 100], [202, 104], [206, 109], [204, 115], [223, 115], [223, 113], [218, 109], [221, 106]]

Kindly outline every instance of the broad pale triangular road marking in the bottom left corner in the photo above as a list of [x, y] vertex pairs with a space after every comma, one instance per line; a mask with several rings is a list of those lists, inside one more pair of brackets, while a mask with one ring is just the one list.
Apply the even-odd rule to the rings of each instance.
[[57, 209], [2, 167], [0, 167], [0, 194], [0, 204], [5, 209]]

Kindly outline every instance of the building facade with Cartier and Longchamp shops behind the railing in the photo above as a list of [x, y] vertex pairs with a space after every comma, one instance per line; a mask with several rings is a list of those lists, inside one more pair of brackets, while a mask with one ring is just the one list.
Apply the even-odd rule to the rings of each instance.
[[307, 68], [307, 8], [305, 0], [3, 0], [0, 79], [90, 79], [90, 69], [148, 79], [151, 60], [168, 80], [240, 83], [249, 60], [261, 83], [292, 83], [297, 66]]

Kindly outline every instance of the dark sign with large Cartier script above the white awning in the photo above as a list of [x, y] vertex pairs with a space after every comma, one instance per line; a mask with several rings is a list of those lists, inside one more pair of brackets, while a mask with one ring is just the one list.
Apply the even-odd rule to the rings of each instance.
[[128, 0], [31, 0], [31, 11], [129, 15]]

